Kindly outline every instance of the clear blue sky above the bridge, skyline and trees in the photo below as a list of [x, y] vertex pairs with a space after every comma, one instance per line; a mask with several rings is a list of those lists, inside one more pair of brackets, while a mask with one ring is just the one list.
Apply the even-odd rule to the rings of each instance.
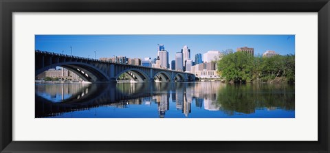
[[[184, 45], [190, 57], [202, 56], [209, 50], [223, 51], [238, 47], [253, 47], [254, 55], [274, 50], [281, 55], [295, 54], [294, 35], [36, 35], [35, 49], [74, 56], [96, 58], [126, 56], [127, 58], [157, 58], [157, 44], [164, 44], [169, 60]], [[170, 63], [169, 61], [169, 63]]]

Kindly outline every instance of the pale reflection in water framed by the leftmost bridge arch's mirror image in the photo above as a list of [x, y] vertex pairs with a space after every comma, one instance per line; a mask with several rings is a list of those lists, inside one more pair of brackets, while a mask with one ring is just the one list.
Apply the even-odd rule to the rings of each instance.
[[[72, 95], [83, 97], [88, 93], [89, 84], [37, 84], [37, 95], [49, 95], [51, 99], [66, 99]], [[69, 96], [69, 97], [68, 97]]]

